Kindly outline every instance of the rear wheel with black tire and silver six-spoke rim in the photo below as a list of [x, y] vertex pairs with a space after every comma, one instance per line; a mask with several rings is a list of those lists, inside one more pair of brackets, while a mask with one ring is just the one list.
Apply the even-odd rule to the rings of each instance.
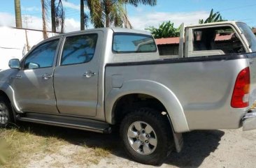
[[[150, 139], [148, 139], [147, 145], [150, 146], [150, 152], [152, 153], [145, 153], [144, 151], [144, 145], [145, 140], [142, 136], [142, 133], [137, 135], [138, 137], [133, 138], [132, 136], [129, 137], [128, 131], [134, 131], [136, 132], [136, 126], [141, 126], [141, 130], [143, 131], [143, 127], [147, 127], [147, 124], [150, 125], [152, 128], [152, 132], [150, 136], [154, 139], [157, 139], [157, 145], [152, 146], [150, 143]], [[145, 123], [145, 125], [144, 125]], [[134, 124], [134, 125], [133, 125]], [[134, 129], [134, 130], [131, 130]], [[120, 125], [120, 135], [122, 137], [122, 142], [125, 146], [125, 151], [131, 157], [133, 160], [136, 160], [136, 162], [141, 162], [143, 164], [147, 165], [160, 165], [166, 159], [166, 157], [171, 152], [171, 149], [173, 148], [173, 138], [172, 138], [172, 132], [171, 127], [169, 124], [169, 121], [166, 116], [163, 116], [155, 109], [151, 108], [138, 108], [137, 110], [134, 110], [134, 112], [131, 112], [125, 116], [125, 119], [122, 120], [122, 123]], [[145, 132], [145, 130], [144, 130]], [[153, 134], [152, 134], [153, 133]], [[148, 134], [145, 132], [145, 134]], [[156, 137], [155, 137], [155, 135]], [[144, 133], [143, 133], [144, 135]], [[133, 135], [136, 136], [136, 135]], [[142, 136], [142, 137], [139, 137]], [[151, 138], [150, 137], [150, 138]], [[141, 140], [142, 139], [142, 140]], [[138, 142], [143, 143], [136, 151], [134, 147], [132, 147], [131, 143], [138, 144]], [[135, 145], [136, 147], [138, 145]], [[136, 148], [135, 147], [135, 148]], [[146, 147], [147, 148], [147, 147]], [[145, 149], [146, 149], [145, 148]], [[141, 151], [140, 151], [141, 150]]]

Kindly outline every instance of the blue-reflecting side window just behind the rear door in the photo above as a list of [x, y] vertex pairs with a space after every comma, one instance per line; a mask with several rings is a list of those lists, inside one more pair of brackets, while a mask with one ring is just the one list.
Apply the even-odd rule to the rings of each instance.
[[152, 36], [137, 33], [114, 33], [114, 53], [157, 52], [157, 46]]

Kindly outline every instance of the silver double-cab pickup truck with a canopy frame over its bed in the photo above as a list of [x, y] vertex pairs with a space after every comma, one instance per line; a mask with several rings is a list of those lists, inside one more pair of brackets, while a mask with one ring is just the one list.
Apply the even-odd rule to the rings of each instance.
[[150, 165], [180, 152], [183, 132], [256, 128], [256, 38], [241, 22], [182, 29], [161, 59], [150, 33], [92, 29], [39, 43], [0, 72], [0, 126], [29, 121], [110, 133]]

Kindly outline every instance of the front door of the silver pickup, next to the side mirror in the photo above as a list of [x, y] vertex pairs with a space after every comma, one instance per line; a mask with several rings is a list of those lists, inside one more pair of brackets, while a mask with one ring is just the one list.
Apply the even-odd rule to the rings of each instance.
[[22, 112], [58, 113], [52, 78], [58, 44], [59, 39], [47, 41], [22, 60], [11, 83]]

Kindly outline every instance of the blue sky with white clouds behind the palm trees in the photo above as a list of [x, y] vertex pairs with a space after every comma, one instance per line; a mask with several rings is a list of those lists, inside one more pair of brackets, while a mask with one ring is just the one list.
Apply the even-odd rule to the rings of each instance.
[[[41, 0], [20, 0], [20, 3], [23, 28], [42, 29]], [[62, 3], [66, 15], [64, 31], [78, 31], [80, 0], [62, 0]], [[0, 0], [0, 4], [0, 26], [15, 26], [14, 0]], [[158, 27], [169, 20], [176, 27], [181, 23], [197, 24], [199, 19], [205, 20], [208, 17], [212, 8], [214, 12], [219, 11], [225, 20], [239, 20], [256, 27], [255, 0], [157, 0], [157, 6], [127, 6], [127, 13], [134, 29], [144, 30], [148, 26]], [[88, 28], [93, 28], [92, 24]]]

